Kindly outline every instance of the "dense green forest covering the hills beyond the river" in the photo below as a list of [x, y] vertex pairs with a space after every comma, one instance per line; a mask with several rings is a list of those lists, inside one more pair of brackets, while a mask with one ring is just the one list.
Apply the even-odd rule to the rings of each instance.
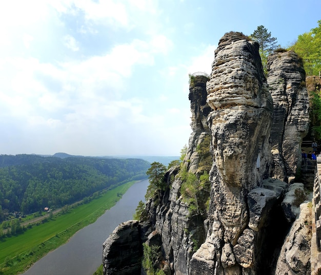
[[83, 199], [122, 181], [146, 178], [142, 159], [0, 155], [0, 221]]

